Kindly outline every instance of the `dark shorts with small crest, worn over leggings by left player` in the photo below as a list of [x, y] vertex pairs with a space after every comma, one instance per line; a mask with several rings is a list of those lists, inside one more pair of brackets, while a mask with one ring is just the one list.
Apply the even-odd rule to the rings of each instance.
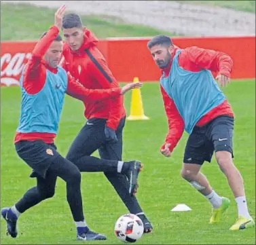
[[[19, 157], [33, 169], [33, 173], [43, 178], [52, 161], [60, 155], [54, 144], [46, 144], [42, 140], [19, 141], [15, 144], [15, 148]], [[31, 174], [32, 177], [33, 175], [35, 174]]]

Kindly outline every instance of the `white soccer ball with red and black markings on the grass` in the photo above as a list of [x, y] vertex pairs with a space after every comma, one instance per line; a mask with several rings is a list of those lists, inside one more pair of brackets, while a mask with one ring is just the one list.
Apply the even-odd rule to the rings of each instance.
[[124, 214], [115, 222], [115, 235], [122, 242], [136, 242], [143, 232], [143, 222], [135, 214]]

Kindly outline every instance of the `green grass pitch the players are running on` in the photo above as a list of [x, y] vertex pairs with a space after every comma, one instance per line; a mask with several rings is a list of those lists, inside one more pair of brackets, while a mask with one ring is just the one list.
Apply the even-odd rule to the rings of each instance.
[[[255, 81], [233, 81], [224, 89], [236, 113], [234, 162], [244, 176], [249, 209], [255, 219]], [[127, 121], [124, 129], [124, 159], [140, 159], [144, 170], [137, 195], [153, 233], [136, 244], [255, 244], [255, 230], [229, 231], [236, 220], [236, 202], [215, 159], [204, 164], [202, 172], [219, 195], [232, 204], [219, 225], [209, 225], [211, 205], [180, 176], [187, 134], [184, 133], [171, 158], [159, 150], [167, 132], [166, 116], [158, 83], [145, 83], [141, 89], [148, 121]], [[126, 95], [127, 114], [131, 93]], [[14, 150], [14, 134], [20, 113], [20, 89], [1, 88], [1, 207], [12, 206], [24, 191], [35, 185], [31, 169]], [[67, 96], [58, 151], [66, 155], [69, 145], [85, 123], [81, 102]], [[95, 154], [97, 155], [97, 153]], [[83, 173], [81, 183], [86, 221], [108, 240], [100, 244], [122, 244], [113, 233], [115, 221], [128, 212], [102, 173]], [[171, 212], [177, 204], [187, 204], [190, 212]], [[75, 242], [75, 226], [66, 202], [65, 183], [58, 179], [56, 195], [20, 216], [19, 236], [5, 236], [1, 219], [1, 244], [80, 244]], [[90, 242], [86, 242], [90, 244]], [[95, 243], [92, 243], [95, 244]]]

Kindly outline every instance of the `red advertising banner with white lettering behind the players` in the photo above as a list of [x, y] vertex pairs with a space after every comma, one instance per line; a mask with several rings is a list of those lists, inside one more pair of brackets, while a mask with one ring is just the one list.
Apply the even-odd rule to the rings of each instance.
[[[104, 39], [98, 48], [118, 81], [158, 81], [160, 71], [149, 51], [148, 38]], [[173, 38], [180, 48], [193, 45], [225, 52], [234, 61], [232, 79], [255, 78], [255, 37], [183, 37]], [[31, 57], [36, 41], [1, 42], [1, 86], [18, 86], [24, 64]]]

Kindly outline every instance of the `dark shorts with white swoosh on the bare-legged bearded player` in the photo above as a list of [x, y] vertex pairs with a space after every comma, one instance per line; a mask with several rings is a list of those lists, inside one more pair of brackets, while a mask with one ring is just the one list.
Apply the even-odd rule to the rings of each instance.
[[214, 151], [228, 151], [234, 157], [233, 130], [234, 118], [229, 116], [216, 117], [202, 127], [195, 126], [187, 139], [183, 162], [200, 165], [211, 162]]

